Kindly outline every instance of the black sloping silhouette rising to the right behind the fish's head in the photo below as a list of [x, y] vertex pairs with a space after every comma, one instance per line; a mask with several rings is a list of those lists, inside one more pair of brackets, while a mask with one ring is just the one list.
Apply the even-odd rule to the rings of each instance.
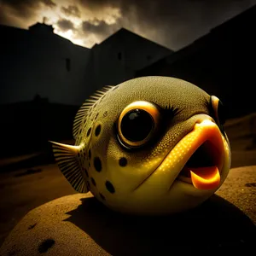
[[137, 72], [188, 80], [218, 96], [228, 117], [256, 111], [256, 6], [217, 26], [193, 44]]

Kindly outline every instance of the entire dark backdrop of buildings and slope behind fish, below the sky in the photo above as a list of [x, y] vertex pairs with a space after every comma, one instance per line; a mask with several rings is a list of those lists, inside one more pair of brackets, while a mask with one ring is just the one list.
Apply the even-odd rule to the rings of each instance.
[[72, 138], [74, 115], [88, 96], [140, 76], [188, 80], [218, 96], [227, 117], [256, 111], [255, 31], [256, 7], [177, 52], [124, 28], [86, 49], [45, 24], [0, 26], [2, 148], [28, 152]]

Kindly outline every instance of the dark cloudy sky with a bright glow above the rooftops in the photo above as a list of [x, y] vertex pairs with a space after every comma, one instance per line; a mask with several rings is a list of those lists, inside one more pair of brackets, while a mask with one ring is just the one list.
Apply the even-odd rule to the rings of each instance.
[[0, 23], [55, 27], [74, 44], [91, 47], [120, 27], [180, 49], [256, 4], [256, 0], [0, 0]]

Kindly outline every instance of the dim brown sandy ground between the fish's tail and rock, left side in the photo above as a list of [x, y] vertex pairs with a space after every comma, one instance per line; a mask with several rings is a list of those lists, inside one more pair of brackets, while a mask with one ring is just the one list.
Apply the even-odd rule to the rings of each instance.
[[75, 194], [56, 165], [0, 174], [0, 244], [26, 212], [63, 195]]

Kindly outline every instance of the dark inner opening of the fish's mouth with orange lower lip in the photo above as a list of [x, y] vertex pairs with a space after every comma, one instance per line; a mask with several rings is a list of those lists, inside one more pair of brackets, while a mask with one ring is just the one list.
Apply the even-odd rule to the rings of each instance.
[[[177, 176], [177, 180], [191, 183], [197, 189], [215, 189], [220, 182], [223, 163], [223, 143], [218, 130], [201, 143]], [[193, 150], [193, 149], [192, 149]]]

